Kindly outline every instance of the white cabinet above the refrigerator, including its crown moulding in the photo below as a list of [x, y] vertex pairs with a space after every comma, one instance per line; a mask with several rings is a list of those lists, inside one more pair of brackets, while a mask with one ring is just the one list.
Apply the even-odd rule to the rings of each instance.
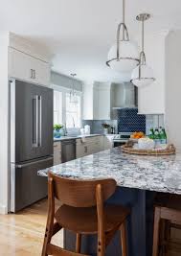
[[9, 78], [50, 85], [51, 66], [46, 51], [17, 35], [11, 35], [9, 45]]

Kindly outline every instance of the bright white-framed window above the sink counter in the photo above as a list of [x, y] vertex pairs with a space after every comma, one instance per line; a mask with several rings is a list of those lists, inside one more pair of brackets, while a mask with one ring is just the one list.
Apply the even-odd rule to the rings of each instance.
[[54, 87], [54, 124], [66, 124], [66, 128], [80, 128], [81, 93], [75, 92], [77, 104], [70, 102], [70, 90]]

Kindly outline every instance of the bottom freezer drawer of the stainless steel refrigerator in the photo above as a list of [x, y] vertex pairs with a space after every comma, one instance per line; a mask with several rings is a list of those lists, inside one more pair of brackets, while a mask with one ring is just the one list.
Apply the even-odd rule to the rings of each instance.
[[11, 212], [17, 212], [47, 197], [47, 177], [37, 171], [53, 166], [53, 157], [23, 164], [11, 164]]

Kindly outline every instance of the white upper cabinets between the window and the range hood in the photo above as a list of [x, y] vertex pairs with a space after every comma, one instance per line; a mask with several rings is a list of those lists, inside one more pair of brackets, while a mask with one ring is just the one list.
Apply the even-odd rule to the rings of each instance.
[[111, 83], [94, 82], [83, 85], [84, 120], [109, 120], [111, 108]]

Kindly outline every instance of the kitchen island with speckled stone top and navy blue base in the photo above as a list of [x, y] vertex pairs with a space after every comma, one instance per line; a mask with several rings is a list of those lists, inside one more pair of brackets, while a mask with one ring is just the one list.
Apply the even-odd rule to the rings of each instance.
[[[95, 179], [112, 177], [117, 181], [117, 191], [108, 202], [124, 204], [131, 209], [127, 220], [128, 255], [149, 256], [152, 246], [153, 198], [155, 192], [181, 195], [181, 154], [168, 156], [131, 155], [114, 148], [91, 154], [38, 172]], [[121, 255], [119, 234], [108, 245], [105, 255]], [[75, 235], [64, 232], [65, 247], [74, 250]], [[84, 236], [82, 252], [94, 255], [97, 240]]]

